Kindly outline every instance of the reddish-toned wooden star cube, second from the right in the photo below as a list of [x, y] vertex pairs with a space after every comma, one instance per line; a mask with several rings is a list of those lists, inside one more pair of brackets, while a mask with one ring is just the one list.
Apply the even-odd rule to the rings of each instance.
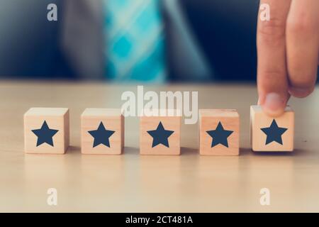
[[200, 109], [199, 153], [239, 155], [240, 118], [235, 110]]

